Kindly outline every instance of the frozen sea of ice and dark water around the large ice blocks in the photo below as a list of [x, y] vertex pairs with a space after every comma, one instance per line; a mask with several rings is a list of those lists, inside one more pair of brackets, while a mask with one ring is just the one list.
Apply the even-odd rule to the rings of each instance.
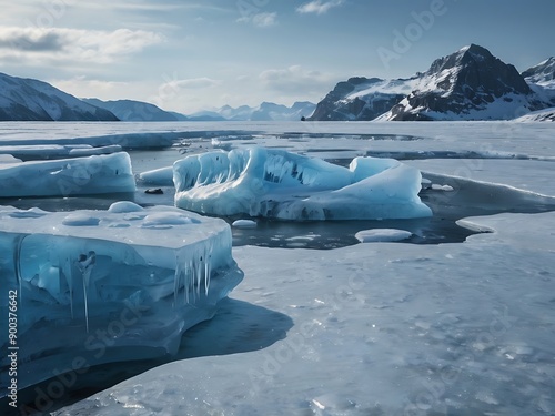
[[[233, 229], [244, 280], [176, 356], [91, 368], [63, 397], [43, 399], [47, 413], [555, 414], [553, 123], [0, 124], [0, 146], [29, 143], [122, 145], [135, 174], [250, 144], [342, 165], [394, 158], [422, 171], [434, 212]], [[173, 204], [172, 186], [0, 203], [70, 211], [121, 199]], [[376, 229], [412, 236], [359, 243], [359, 231]], [[21, 399], [32, 407], [48, 387]]]

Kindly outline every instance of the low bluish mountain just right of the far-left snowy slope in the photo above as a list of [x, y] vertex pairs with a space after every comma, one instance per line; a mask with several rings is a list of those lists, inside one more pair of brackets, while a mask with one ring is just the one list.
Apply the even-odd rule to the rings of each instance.
[[[121, 121], [184, 121], [186, 116], [164, 111], [154, 104], [133, 100], [101, 101], [83, 99], [89, 104], [111, 111]], [[181, 116], [180, 116], [181, 115]]]

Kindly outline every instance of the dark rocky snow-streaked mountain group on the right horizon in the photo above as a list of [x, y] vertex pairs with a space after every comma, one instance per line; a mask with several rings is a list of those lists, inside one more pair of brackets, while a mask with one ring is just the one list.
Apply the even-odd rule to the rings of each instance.
[[340, 82], [309, 120], [511, 120], [555, 106], [554, 73], [554, 58], [521, 74], [471, 44], [412, 78]]

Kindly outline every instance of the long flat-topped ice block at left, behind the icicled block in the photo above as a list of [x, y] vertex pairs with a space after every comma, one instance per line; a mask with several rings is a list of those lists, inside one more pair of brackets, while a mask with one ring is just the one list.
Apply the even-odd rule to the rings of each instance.
[[134, 192], [128, 153], [0, 164], [0, 197]]

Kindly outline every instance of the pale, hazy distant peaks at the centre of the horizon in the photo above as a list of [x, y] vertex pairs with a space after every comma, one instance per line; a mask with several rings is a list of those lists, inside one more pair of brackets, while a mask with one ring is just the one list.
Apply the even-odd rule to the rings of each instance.
[[191, 114], [190, 118], [210, 118], [212, 120], [230, 121], [297, 121], [309, 118], [316, 104], [309, 101], [297, 101], [291, 106], [263, 102], [258, 106], [241, 105], [232, 108], [224, 105], [213, 111], [201, 111]]

